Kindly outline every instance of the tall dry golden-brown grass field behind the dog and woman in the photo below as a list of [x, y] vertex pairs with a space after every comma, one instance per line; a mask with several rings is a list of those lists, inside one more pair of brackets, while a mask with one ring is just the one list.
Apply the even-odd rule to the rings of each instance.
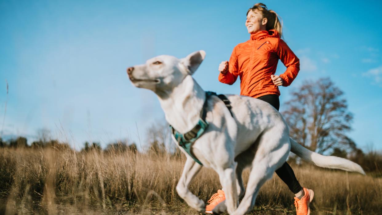
[[[45, 147], [0, 148], [0, 214], [199, 214], [176, 194], [183, 155]], [[295, 166], [315, 191], [314, 214], [382, 214], [382, 178]], [[244, 181], [248, 171], [244, 172]], [[207, 201], [220, 189], [203, 168], [190, 190]], [[252, 214], [295, 214], [293, 194], [276, 176]]]

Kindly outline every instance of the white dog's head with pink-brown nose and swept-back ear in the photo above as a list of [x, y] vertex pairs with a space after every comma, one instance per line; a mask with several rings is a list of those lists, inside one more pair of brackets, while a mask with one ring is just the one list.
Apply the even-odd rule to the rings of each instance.
[[160, 55], [127, 69], [134, 86], [158, 92], [172, 91], [186, 76], [192, 75], [202, 63], [206, 52], [193, 52], [178, 59], [169, 55]]

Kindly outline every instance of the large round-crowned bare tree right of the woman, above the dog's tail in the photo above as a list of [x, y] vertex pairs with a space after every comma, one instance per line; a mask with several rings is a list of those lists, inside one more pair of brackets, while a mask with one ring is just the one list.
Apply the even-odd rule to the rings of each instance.
[[346, 132], [351, 130], [353, 115], [343, 92], [329, 78], [306, 81], [292, 92], [282, 112], [295, 141], [312, 151], [329, 153], [335, 148], [355, 150]]

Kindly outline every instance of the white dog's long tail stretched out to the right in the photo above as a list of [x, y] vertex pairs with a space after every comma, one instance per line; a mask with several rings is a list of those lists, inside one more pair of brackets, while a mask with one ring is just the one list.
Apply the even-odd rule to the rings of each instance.
[[346, 160], [345, 158], [335, 156], [320, 155], [316, 152], [312, 152], [311, 150], [306, 149], [302, 145], [295, 142], [292, 138], [289, 139], [291, 145], [291, 152], [295, 153], [298, 157], [301, 157], [304, 160], [311, 162], [318, 167], [340, 169], [350, 172], [358, 172], [363, 175], [366, 175], [361, 166], [354, 162], [351, 162], [350, 160]]

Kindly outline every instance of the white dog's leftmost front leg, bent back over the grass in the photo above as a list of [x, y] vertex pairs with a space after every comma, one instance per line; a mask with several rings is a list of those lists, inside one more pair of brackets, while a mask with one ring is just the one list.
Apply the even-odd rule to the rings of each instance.
[[191, 157], [187, 156], [182, 176], [179, 179], [178, 185], [176, 185], [176, 192], [178, 192], [178, 195], [184, 199], [190, 207], [204, 212], [206, 210], [204, 202], [188, 190], [189, 183], [199, 172], [201, 167], [199, 163], [196, 163]]

